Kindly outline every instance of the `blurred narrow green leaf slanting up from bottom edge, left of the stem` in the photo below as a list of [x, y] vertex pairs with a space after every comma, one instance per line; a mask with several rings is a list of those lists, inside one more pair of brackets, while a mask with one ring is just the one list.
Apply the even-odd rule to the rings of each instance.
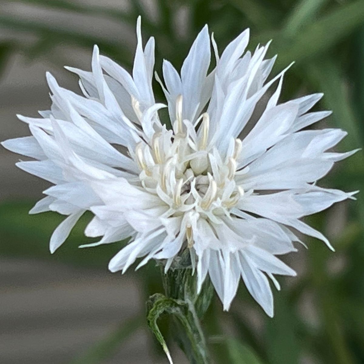
[[120, 324], [114, 332], [79, 357], [73, 359], [70, 364], [103, 363], [104, 360], [112, 357], [115, 351], [142, 326], [143, 321], [142, 317], [135, 317]]

